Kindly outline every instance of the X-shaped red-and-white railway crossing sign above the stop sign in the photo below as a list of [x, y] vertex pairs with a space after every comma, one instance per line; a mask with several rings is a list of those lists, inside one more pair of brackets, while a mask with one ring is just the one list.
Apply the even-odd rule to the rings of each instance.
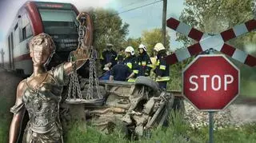
[[178, 50], [174, 54], [168, 55], [166, 57], [167, 64], [173, 65], [177, 62], [182, 62], [186, 58], [190, 58], [191, 56], [201, 53], [202, 51], [213, 48], [214, 50], [218, 50], [248, 66], [256, 66], [255, 57], [251, 56], [250, 54], [246, 54], [242, 50], [235, 49], [233, 46], [225, 43], [230, 39], [238, 38], [242, 34], [246, 34], [251, 30], [256, 29], [256, 20], [254, 19], [234, 26], [230, 30], [223, 31], [220, 34], [214, 35], [204, 34], [202, 31], [196, 30], [193, 27], [183, 22], [179, 22], [174, 18], [169, 18], [167, 20], [167, 26], [198, 42], [185, 49]]

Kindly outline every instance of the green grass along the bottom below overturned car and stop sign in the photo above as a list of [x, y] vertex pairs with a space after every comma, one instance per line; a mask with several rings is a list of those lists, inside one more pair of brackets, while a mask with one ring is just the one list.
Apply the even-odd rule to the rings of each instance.
[[[116, 142], [116, 143], [205, 143], [208, 141], [208, 127], [202, 129], [192, 129], [182, 120], [180, 113], [171, 113], [172, 120], [168, 128], [155, 128], [143, 137], [138, 137], [138, 140], [128, 140], [120, 129], [114, 129], [113, 133], [102, 134], [97, 129], [87, 126], [87, 128], [79, 128], [79, 123], [76, 122], [74, 126], [67, 133], [66, 143], [76, 142]], [[150, 134], [150, 135], [149, 135]], [[256, 124], [243, 125], [240, 129], [235, 129], [230, 126], [226, 129], [214, 130], [214, 142], [218, 143], [253, 143], [256, 142]]]

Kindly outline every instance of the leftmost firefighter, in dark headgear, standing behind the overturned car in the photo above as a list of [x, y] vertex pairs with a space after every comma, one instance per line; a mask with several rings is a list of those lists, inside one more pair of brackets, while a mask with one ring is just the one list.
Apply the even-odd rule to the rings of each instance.
[[110, 70], [117, 62], [118, 54], [113, 50], [113, 44], [107, 43], [106, 50], [102, 52], [102, 69], [105, 71]]

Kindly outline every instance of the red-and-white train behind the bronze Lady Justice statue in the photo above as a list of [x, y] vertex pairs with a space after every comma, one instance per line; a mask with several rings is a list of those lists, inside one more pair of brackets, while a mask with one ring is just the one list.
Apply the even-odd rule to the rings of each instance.
[[77, 15], [77, 8], [70, 3], [26, 2], [7, 34], [8, 69], [26, 75], [33, 72], [28, 42], [42, 32], [50, 34], [57, 48], [48, 68], [66, 61], [70, 51], [78, 46]]

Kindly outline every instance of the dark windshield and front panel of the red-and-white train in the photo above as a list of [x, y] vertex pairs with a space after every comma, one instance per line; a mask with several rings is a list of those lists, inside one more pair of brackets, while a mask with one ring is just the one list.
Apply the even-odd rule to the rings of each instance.
[[46, 34], [50, 34], [57, 51], [71, 51], [78, 45], [78, 21], [74, 10], [39, 9]]

